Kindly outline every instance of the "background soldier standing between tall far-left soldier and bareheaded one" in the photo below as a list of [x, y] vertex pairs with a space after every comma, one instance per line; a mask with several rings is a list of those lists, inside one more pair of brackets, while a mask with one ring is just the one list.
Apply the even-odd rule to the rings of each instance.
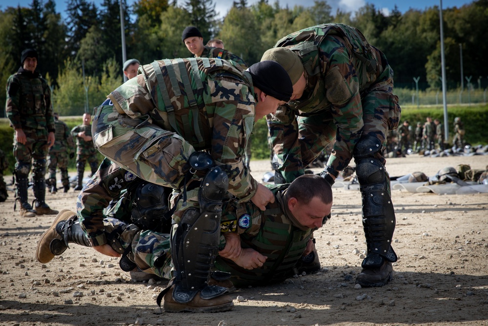
[[47, 167], [49, 169], [47, 185], [49, 192], [55, 194], [58, 191], [56, 188], [56, 167], [59, 166], [63, 190], [67, 193], [69, 190], [68, 155], [69, 158], [75, 157], [75, 142], [68, 126], [59, 120], [58, 113], [54, 113], [54, 124], [56, 126], [54, 133], [56, 141], [49, 148], [49, 156], [47, 156]]

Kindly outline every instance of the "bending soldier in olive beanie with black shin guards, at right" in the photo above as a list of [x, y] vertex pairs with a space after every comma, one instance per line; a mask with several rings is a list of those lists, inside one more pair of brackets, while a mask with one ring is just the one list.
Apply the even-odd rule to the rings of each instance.
[[356, 28], [322, 24], [286, 36], [262, 60], [290, 74], [292, 100], [268, 119], [278, 161], [275, 183], [304, 174], [334, 139], [322, 176], [331, 184], [354, 157], [363, 199], [367, 256], [356, 283], [382, 286], [397, 256], [391, 247], [395, 213], [383, 148], [398, 127], [401, 109], [385, 55]]

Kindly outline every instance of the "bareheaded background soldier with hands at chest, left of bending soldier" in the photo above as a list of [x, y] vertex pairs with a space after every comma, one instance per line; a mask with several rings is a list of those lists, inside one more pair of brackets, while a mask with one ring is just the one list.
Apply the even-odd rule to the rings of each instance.
[[76, 139], [76, 170], [78, 172], [76, 178], [75, 191], [80, 191], [83, 188], [83, 174], [85, 172], [85, 164], [88, 161], [91, 169], [91, 175], [95, 174], [98, 169], [97, 151], [93, 146], [93, 139], [91, 133], [91, 115], [90, 113], [83, 114], [83, 123], [74, 127], [71, 130], [71, 135]]

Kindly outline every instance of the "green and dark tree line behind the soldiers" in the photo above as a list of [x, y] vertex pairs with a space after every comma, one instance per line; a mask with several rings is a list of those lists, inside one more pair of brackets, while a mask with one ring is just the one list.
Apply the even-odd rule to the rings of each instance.
[[[122, 84], [122, 43], [119, 0], [103, 0], [100, 7], [88, 0], [67, 0], [63, 19], [53, 0], [32, 0], [28, 7], [0, 10], [0, 83], [20, 66], [20, 53], [34, 47], [38, 69], [53, 89], [54, 109], [61, 115], [81, 115], [103, 102]], [[122, 0], [127, 58], [142, 64], [164, 58], [189, 57], [181, 35], [188, 25], [196, 26], [204, 42], [217, 37], [225, 48], [241, 56], [248, 65], [285, 35], [324, 22], [358, 27], [368, 42], [382, 50], [393, 67], [395, 87], [421, 89], [441, 87], [439, 7], [397, 7], [385, 15], [367, 3], [355, 13], [332, 12], [326, 0], [310, 7], [282, 7], [260, 0], [248, 5], [234, 1], [223, 19], [213, 0], [138, 0], [127, 6]], [[1, 9], [1, 8], [0, 8]], [[461, 51], [464, 76], [473, 87], [488, 85], [488, 66], [483, 53], [488, 30], [488, 0], [443, 10], [448, 88], [461, 86]], [[464, 81], [465, 87], [468, 85]], [[0, 93], [5, 103], [6, 94]], [[88, 99], [88, 108], [86, 107]], [[4, 113], [3, 113], [4, 114]]]

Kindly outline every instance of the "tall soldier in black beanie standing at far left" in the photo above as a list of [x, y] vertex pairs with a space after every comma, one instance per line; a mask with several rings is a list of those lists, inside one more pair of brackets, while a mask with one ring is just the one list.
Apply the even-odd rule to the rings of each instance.
[[[20, 216], [35, 217], [58, 214], [45, 202], [46, 156], [54, 144], [54, 112], [51, 90], [47, 81], [36, 72], [37, 52], [22, 51], [19, 70], [7, 81], [5, 111], [10, 125], [15, 129], [14, 156], [16, 159], [16, 201], [20, 201]], [[32, 163], [33, 161], [33, 163]], [[35, 209], [28, 203], [28, 175], [33, 165]], [[14, 206], [15, 210], [15, 206]]]

